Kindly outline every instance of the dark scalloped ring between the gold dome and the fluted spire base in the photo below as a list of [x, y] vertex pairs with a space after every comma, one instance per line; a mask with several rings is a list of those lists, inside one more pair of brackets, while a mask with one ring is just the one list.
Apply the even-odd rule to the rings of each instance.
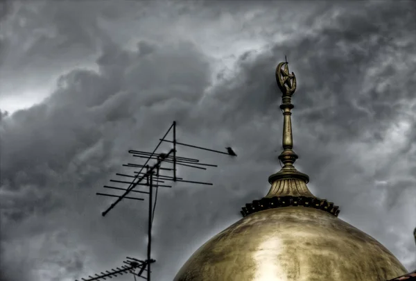
[[333, 214], [334, 216], [338, 216], [340, 213], [339, 207], [333, 205], [332, 202], [326, 199], [306, 196], [275, 196], [272, 198], [261, 198], [260, 200], [254, 200], [252, 203], [245, 204], [245, 207], [242, 207], [241, 214], [244, 217], [263, 210], [291, 206], [312, 207]]

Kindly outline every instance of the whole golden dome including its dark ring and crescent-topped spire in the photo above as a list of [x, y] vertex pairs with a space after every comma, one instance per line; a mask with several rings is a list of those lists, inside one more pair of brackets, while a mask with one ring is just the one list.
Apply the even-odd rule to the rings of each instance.
[[[283, 69], [282, 69], [283, 67]], [[309, 177], [293, 167], [291, 96], [295, 74], [276, 71], [284, 114], [284, 167], [268, 194], [243, 207], [243, 219], [202, 245], [175, 281], [383, 281], [406, 269], [370, 235], [338, 219], [338, 206], [311, 194]]]

